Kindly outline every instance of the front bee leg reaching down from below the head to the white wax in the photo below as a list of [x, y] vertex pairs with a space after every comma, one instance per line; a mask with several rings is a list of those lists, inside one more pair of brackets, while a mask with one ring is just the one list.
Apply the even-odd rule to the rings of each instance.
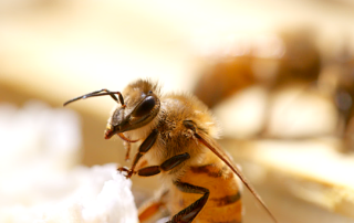
[[134, 169], [136, 163], [139, 161], [139, 159], [145, 155], [155, 144], [156, 139], [158, 137], [158, 130], [154, 129], [150, 135], [143, 141], [143, 144], [139, 146], [138, 152], [134, 157], [133, 166], [131, 170], [127, 170], [126, 168], [118, 168], [118, 171], [127, 172], [126, 178], [131, 178], [134, 173]]

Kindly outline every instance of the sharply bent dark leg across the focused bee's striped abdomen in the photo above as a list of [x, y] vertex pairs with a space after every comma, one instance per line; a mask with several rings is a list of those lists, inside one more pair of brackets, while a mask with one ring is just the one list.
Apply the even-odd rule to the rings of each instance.
[[170, 221], [168, 221], [168, 223], [177, 223], [177, 222], [189, 223], [197, 216], [197, 214], [201, 211], [204, 205], [207, 203], [209, 198], [209, 190], [206, 188], [192, 185], [192, 184], [180, 182], [180, 181], [175, 181], [174, 184], [181, 192], [204, 194], [200, 199], [198, 199], [196, 202], [194, 202], [186, 209], [178, 212], [178, 214], [176, 214], [175, 216], [173, 216]]

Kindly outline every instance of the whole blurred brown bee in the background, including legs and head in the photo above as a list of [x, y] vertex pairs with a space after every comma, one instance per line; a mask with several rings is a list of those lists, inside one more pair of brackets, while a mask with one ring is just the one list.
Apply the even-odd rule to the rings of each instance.
[[[300, 86], [303, 93], [315, 92], [335, 105], [343, 120], [337, 132], [344, 128], [345, 147], [354, 149], [354, 59], [350, 53], [324, 60], [315, 35], [303, 30], [236, 40], [229, 47], [227, 54], [214, 55], [214, 63], [195, 87], [195, 95], [209, 108], [253, 85], [266, 87], [269, 98], [287, 87]], [[260, 137], [269, 136], [269, 113], [268, 105], [263, 127], [256, 134]]]

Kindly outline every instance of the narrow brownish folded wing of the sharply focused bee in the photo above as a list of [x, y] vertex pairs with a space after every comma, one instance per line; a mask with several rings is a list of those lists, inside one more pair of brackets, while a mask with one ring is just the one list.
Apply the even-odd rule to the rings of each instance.
[[246, 179], [243, 173], [237, 168], [237, 166], [230, 160], [229, 156], [223, 151], [223, 149], [220, 148], [218, 142], [210, 137], [208, 134], [204, 131], [196, 131], [195, 137], [206, 147], [208, 147], [216, 156], [218, 156], [233, 172], [237, 174], [240, 180], [243, 182], [243, 184], [249, 189], [249, 191], [254, 195], [254, 198], [261, 203], [261, 205], [264, 208], [267, 213], [272, 217], [272, 220], [277, 223], [278, 221], [273, 216], [273, 214], [270, 212], [261, 197], [256, 192], [252, 184]]

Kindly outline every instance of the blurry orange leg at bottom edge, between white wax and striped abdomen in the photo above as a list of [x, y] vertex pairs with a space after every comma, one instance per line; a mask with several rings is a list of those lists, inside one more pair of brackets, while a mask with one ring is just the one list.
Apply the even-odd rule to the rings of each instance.
[[139, 208], [138, 219], [140, 223], [152, 219], [157, 214], [162, 215], [162, 212], [166, 210], [167, 194], [168, 190], [164, 190], [163, 193], [159, 193], [157, 197], [147, 201]]

